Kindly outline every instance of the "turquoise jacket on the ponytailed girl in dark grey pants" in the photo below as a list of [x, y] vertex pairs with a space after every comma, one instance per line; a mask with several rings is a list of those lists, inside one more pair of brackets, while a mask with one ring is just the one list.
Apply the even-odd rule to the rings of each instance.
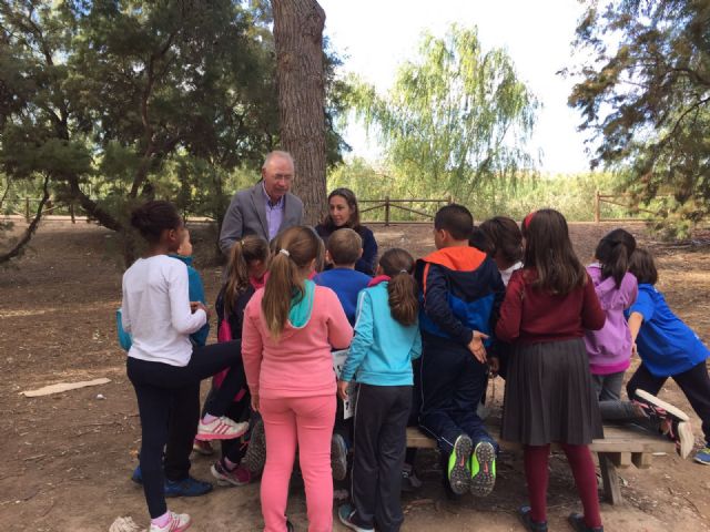
[[422, 355], [419, 327], [392, 317], [387, 282], [359, 294], [355, 337], [341, 379], [374, 386], [412, 386], [412, 360]]

